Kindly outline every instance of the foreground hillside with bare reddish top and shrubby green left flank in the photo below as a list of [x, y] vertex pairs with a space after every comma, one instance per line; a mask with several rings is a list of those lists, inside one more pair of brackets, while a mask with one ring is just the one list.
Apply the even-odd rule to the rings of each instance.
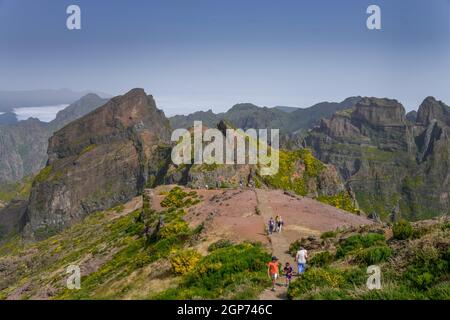
[[[273, 213], [285, 218], [287, 243], [372, 223], [311, 199], [265, 192]], [[258, 206], [251, 189], [145, 190], [49, 239], [0, 246], [0, 299], [257, 298], [270, 285], [271, 253]], [[70, 265], [81, 269], [80, 290], [66, 288]]]

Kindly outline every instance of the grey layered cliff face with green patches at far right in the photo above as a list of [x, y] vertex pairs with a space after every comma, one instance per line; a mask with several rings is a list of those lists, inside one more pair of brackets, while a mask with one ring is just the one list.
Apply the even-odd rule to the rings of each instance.
[[395, 100], [363, 98], [314, 128], [306, 143], [335, 165], [367, 213], [428, 218], [449, 213], [448, 106], [427, 98], [417, 122]]

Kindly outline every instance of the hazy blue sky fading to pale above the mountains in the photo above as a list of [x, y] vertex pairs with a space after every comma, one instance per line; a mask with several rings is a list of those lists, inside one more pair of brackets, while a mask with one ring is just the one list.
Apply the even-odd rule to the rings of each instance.
[[[66, 28], [70, 4], [82, 30]], [[0, 90], [133, 87], [167, 114], [352, 95], [450, 104], [450, 0], [0, 0]]]

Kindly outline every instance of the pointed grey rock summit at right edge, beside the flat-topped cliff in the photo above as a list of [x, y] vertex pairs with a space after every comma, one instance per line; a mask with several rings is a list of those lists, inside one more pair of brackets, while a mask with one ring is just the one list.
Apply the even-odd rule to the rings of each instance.
[[434, 97], [427, 97], [419, 107], [416, 123], [428, 126], [434, 119], [450, 126], [450, 107]]

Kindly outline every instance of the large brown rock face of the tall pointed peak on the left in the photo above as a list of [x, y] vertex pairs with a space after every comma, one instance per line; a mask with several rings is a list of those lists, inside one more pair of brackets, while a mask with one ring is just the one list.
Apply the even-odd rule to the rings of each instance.
[[48, 165], [33, 184], [26, 233], [45, 237], [130, 200], [150, 179], [158, 148], [169, 139], [167, 119], [142, 89], [113, 98], [56, 132]]

